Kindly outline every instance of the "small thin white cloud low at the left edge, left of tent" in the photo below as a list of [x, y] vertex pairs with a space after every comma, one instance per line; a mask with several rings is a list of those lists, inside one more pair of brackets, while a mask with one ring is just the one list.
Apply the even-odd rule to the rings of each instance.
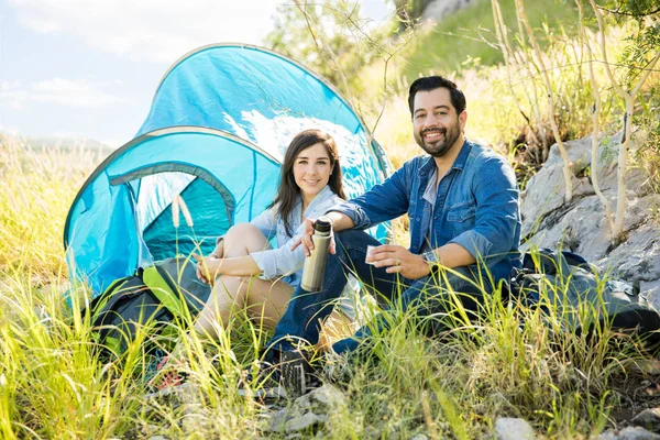
[[0, 107], [22, 109], [28, 102], [54, 102], [77, 108], [98, 108], [131, 103], [127, 98], [105, 89], [112, 81], [53, 78], [21, 86], [19, 81], [0, 81]]

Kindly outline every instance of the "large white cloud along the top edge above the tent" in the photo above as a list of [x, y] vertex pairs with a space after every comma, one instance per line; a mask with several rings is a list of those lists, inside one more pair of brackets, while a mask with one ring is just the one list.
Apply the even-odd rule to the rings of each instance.
[[9, 0], [19, 21], [133, 61], [174, 63], [198, 46], [260, 44], [287, 0]]

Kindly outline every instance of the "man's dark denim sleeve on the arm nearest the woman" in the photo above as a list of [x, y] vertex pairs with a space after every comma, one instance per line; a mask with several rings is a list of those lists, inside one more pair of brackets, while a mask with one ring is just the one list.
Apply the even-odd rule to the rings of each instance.
[[338, 211], [350, 217], [355, 229], [369, 229], [374, 224], [403, 216], [408, 210], [410, 200], [406, 179], [409, 164], [406, 163], [385, 182], [374, 185], [362, 196], [332, 207], [329, 211]]

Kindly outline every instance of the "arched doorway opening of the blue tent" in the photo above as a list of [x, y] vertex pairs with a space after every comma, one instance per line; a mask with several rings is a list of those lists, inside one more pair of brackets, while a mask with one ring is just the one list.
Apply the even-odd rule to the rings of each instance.
[[[178, 254], [210, 253], [216, 238], [233, 224], [235, 199], [208, 170], [184, 163], [147, 165], [110, 179], [134, 197], [135, 226], [143, 241], [140, 265]], [[179, 195], [193, 220], [175, 227], [172, 202]]]

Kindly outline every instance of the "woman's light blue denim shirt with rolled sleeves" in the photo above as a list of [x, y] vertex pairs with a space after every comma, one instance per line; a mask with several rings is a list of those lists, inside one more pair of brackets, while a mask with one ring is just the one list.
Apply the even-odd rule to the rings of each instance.
[[[305, 209], [305, 218], [316, 220], [334, 205], [342, 204], [344, 200], [332, 193], [329, 186], [326, 186], [311, 200]], [[305, 223], [301, 222], [302, 200], [298, 196], [298, 202], [289, 217], [289, 227], [294, 231], [293, 237], [286, 233], [284, 221], [276, 216], [275, 209], [266, 209], [260, 216], [252, 219], [250, 223], [258, 228], [268, 239], [277, 238], [277, 248], [265, 251], [252, 252], [250, 255], [256, 262], [258, 268], [263, 271], [261, 278], [273, 279], [278, 276], [290, 275], [285, 279], [289, 285], [296, 288], [300, 284], [302, 265], [305, 264], [305, 253], [302, 246], [292, 251], [292, 246], [300, 234], [305, 231]]]

